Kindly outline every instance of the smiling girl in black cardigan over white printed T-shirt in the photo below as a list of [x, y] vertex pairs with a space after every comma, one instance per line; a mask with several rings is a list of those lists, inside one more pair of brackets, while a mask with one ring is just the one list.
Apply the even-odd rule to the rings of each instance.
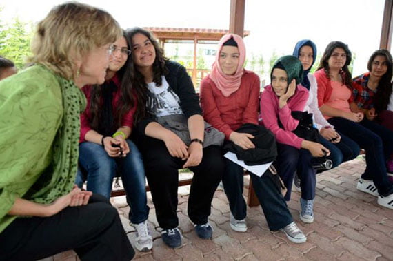
[[204, 140], [208, 135], [204, 135], [199, 98], [185, 68], [165, 59], [147, 30], [131, 28], [126, 38], [132, 48], [132, 85], [139, 95], [137, 140], [163, 242], [181, 246], [177, 187], [182, 168], [194, 172], [188, 216], [200, 238], [211, 238], [208, 216], [224, 169], [221, 147]]

